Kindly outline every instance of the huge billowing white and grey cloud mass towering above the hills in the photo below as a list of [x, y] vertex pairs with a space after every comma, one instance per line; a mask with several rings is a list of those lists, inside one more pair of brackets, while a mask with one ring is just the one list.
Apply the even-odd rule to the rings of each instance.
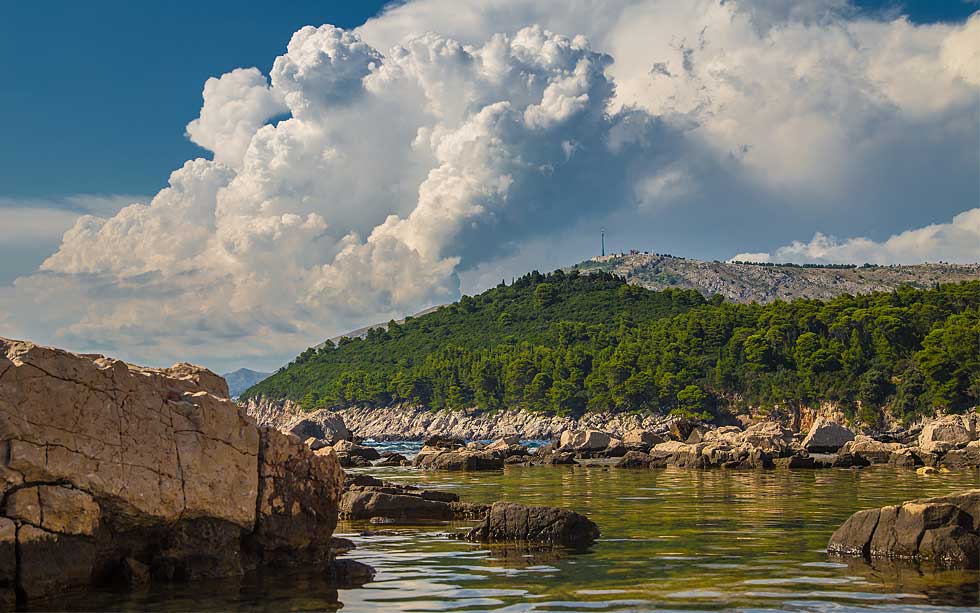
[[[718, 257], [975, 205], [980, 16], [783, 6], [420, 0], [353, 32], [304, 27], [269, 77], [207, 81], [187, 134], [212, 159], [146, 204], [80, 218], [0, 289], [0, 326], [142, 361], [267, 366], [544, 254], [580, 259], [590, 225]], [[879, 259], [931, 258], [953, 230], [929, 232]], [[956, 236], [943, 258], [980, 259]], [[852, 242], [775, 253], [862, 253]]]

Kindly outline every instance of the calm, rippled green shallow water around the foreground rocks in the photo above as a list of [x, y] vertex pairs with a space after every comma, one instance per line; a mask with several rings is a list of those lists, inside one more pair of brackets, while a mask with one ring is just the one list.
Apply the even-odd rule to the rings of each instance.
[[[790, 611], [931, 610], [980, 606], [977, 572], [832, 560], [833, 530], [852, 512], [980, 487], [980, 472], [922, 477], [889, 468], [822, 471], [508, 467], [503, 472], [370, 469], [463, 500], [558, 505], [602, 529], [588, 552], [488, 549], [449, 538], [466, 524], [342, 522], [354, 558], [378, 570], [358, 590], [309, 574], [177, 586], [102, 600], [138, 610]], [[389, 533], [388, 531], [393, 533]], [[338, 602], [339, 601], [339, 602]], [[91, 604], [96, 604], [90, 601]]]

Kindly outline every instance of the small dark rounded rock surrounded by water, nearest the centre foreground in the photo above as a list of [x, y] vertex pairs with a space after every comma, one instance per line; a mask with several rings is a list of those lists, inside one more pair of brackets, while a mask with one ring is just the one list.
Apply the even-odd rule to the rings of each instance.
[[483, 522], [466, 538], [481, 543], [519, 542], [587, 547], [599, 537], [599, 527], [574, 511], [511, 502], [495, 502]]

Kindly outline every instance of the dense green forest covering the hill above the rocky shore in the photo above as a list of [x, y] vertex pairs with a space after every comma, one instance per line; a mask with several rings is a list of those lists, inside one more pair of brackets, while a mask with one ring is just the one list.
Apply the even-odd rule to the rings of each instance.
[[559, 414], [838, 402], [868, 422], [980, 399], [980, 282], [769, 305], [531, 273], [366, 339], [308, 349], [246, 392], [306, 406]]

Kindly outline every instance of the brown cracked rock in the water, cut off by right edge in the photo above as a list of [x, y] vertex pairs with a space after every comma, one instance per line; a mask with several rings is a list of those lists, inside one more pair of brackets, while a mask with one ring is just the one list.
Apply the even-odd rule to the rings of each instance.
[[980, 490], [858, 511], [841, 525], [827, 551], [866, 559], [924, 561], [945, 568], [980, 568]]

